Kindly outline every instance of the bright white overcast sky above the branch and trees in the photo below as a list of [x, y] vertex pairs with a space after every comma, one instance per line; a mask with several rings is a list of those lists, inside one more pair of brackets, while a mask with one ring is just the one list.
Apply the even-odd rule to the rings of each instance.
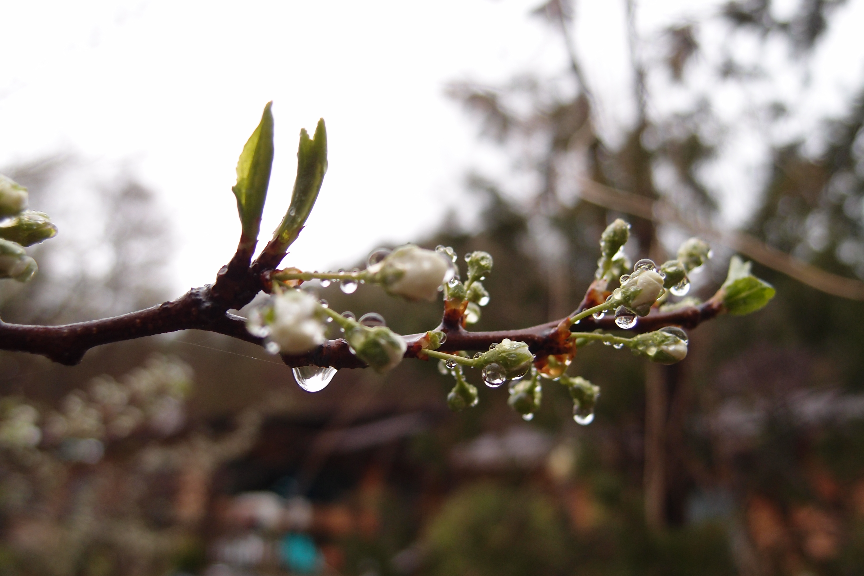
[[[235, 248], [234, 168], [272, 99], [276, 161], [262, 230], [288, 206], [299, 130], [324, 117], [329, 172], [285, 263], [352, 263], [440, 225], [461, 201], [466, 169], [487, 161], [475, 125], [444, 94], [448, 82], [566, 66], [559, 36], [527, 16], [538, 3], [0, 3], [0, 166], [72, 151], [102, 169], [130, 167], [173, 218], [179, 291], [212, 282]], [[698, 20], [717, 4], [643, 2], [640, 29]], [[861, 44], [853, 4], [841, 41]], [[575, 30], [611, 140], [633, 118], [623, 5], [580, 2]], [[855, 84], [861, 60], [844, 64], [857, 66]], [[842, 85], [826, 90], [820, 105], [847, 101]], [[735, 186], [731, 178], [725, 192]], [[79, 225], [58, 224], [54, 242]]]

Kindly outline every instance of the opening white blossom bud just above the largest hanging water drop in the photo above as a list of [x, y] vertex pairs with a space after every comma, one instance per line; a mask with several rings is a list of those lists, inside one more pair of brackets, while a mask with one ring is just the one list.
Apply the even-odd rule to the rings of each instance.
[[246, 327], [252, 334], [266, 336], [284, 354], [308, 352], [325, 340], [319, 304], [300, 290], [273, 294], [264, 307], [253, 311]]

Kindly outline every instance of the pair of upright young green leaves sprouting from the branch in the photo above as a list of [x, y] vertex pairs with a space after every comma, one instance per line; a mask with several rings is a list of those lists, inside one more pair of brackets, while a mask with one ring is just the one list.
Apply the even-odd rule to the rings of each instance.
[[[257, 242], [261, 228], [261, 213], [270, 185], [270, 170], [273, 166], [273, 114], [268, 102], [264, 106], [261, 122], [243, 147], [237, 162], [237, 184], [232, 187], [237, 197], [237, 211], [243, 226], [243, 240], [247, 245]], [[276, 228], [271, 244], [279, 252], [287, 250], [306, 224], [309, 212], [318, 193], [324, 174], [327, 173], [327, 130], [324, 119], [318, 121], [314, 137], [300, 130], [300, 147], [297, 150], [297, 177], [291, 204], [282, 223]]]

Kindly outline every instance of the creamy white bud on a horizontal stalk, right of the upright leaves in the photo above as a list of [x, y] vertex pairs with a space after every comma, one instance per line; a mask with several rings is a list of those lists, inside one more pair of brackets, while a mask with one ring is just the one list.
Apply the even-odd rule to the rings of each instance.
[[408, 300], [434, 301], [453, 263], [446, 256], [406, 244], [369, 269], [372, 281]]

